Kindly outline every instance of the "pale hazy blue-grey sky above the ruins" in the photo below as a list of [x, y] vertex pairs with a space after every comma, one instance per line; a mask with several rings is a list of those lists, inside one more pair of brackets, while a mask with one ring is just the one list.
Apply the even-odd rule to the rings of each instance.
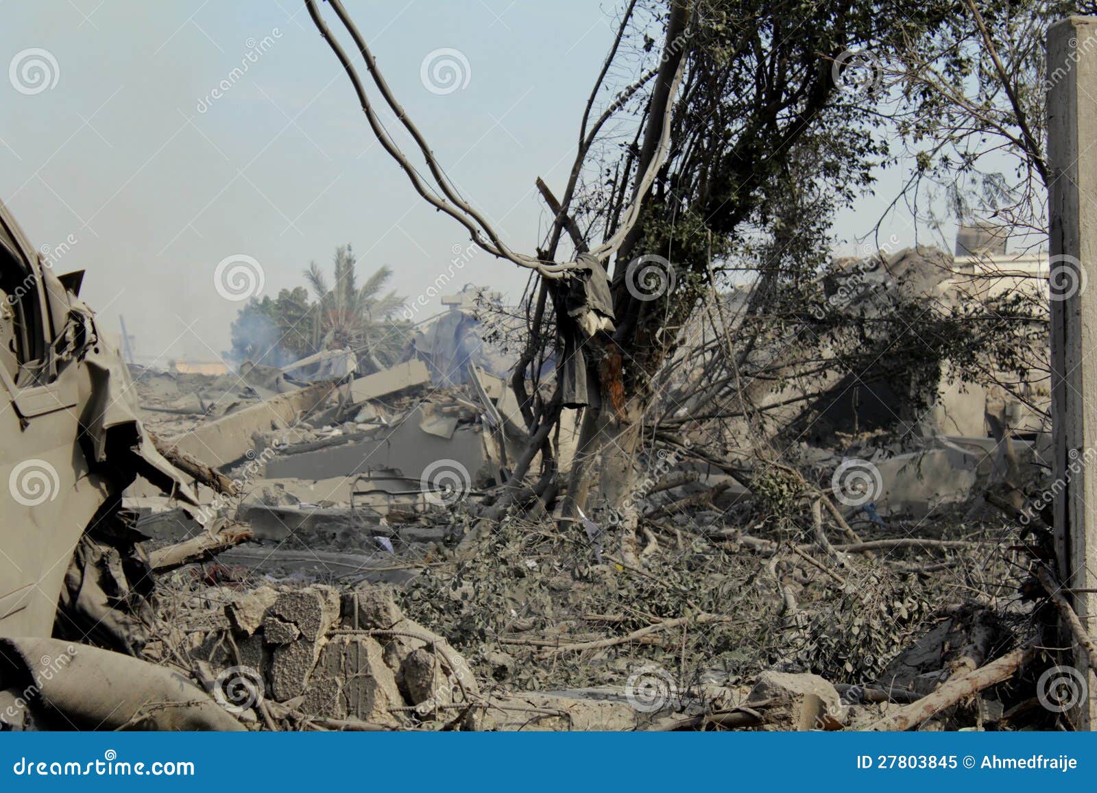
[[[453, 182], [532, 253], [551, 219], [534, 180], [557, 192], [566, 182], [618, 3], [344, 5]], [[521, 295], [528, 273], [470, 251], [465, 230], [373, 138], [304, 2], [0, 9], [0, 200], [56, 272], [87, 271], [81, 297], [108, 332], [125, 317], [138, 360], [219, 355], [244, 298], [304, 285], [308, 263], [329, 268], [341, 243], [362, 276], [389, 265], [392, 286], [422, 304], [417, 317], [441, 308], [426, 294], [444, 271], [443, 292], [474, 283]], [[883, 192], [901, 179], [881, 177]], [[839, 216], [846, 248], [879, 205], [867, 196]], [[915, 239], [902, 216], [884, 230]]]

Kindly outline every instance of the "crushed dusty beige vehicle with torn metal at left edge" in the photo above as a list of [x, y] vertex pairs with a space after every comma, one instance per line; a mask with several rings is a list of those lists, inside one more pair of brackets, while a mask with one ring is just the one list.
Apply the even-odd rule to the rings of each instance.
[[238, 728], [200, 689], [138, 660], [152, 579], [122, 491], [140, 475], [195, 499], [143, 429], [82, 276], [55, 274], [0, 204], [0, 726], [121, 726], [159, 699], [179, 706], [155, 726]]

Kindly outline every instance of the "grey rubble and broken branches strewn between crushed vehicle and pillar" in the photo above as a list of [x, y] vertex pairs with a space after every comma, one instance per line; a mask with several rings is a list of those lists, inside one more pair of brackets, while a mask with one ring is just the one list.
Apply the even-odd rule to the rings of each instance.
[[[500, 378], [467, 371], [439, 386], [411, 360], [263, 398], [240, 375], [138, 377], [161, 427], [183, 415], [149, 409], [169, 383], [208, 397], [166, 442], [238, 485], [203, 486], [195, 511], [138, 483], [127, 507], [148, 548], [201, 542], [215, 520], [249, 533], [161, 576], [145, 654], [246, 702], [251, 728], [829, 729], [894, 716], [1030, 633], [1008, 584], [1016, 529], [984, 496], [1007, 468], [1037, 475], [1036, 442], [1013, 441], [1009, 464], [994, 439], [801, 443], [805, 482], [851, 460], [880, 477], [870, 502], [824, 499], [825, 531], [798, 506], [803, 482], [751, 492], [653, 455], [627, 564], [544, 511], [485, 518], [520, 418]], [[958, 660], [973, 633], [981, 649]], [[992, 690], [931, 722], [1006, 727], [1014, 699]]]

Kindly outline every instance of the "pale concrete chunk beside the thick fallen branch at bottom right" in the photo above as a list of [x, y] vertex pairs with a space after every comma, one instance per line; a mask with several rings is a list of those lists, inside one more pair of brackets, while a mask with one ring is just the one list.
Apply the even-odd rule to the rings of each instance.
[[834, 686], [818, 675], [765, 671], [747, 696], [747, 706], [766, 705], [761, 729], [840, 729], [846, 709]]

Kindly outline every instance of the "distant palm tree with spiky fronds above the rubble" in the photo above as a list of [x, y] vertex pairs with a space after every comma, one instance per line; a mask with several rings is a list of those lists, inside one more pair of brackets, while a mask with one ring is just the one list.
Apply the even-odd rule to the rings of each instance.
[[328, 286], [324, 271], [309, 262], [305, 279], [316, 294], [313, 304], [313, 335], [317, 350], [350, 348], [358, 353], [360, 369], [387, 369], [399, 360], [406, 332], [393, 315], [404, 305], [404, 297], [385, 285], [393, 276], [387, 265], [378, 268], [365, 283], [358, 285], [354, 251], [339, 246], [335, 254], [335, 283]]

